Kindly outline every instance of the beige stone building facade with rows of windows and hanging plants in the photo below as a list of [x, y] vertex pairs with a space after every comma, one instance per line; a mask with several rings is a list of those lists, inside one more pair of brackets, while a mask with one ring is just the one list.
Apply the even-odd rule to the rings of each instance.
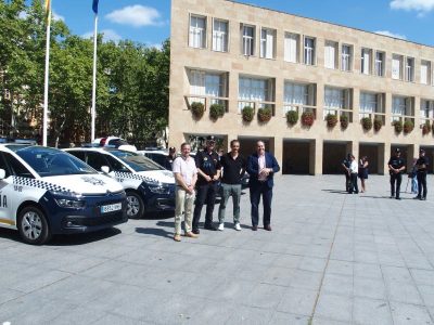
[[342, 172], [347, 153], [386, 173], [396, 147], [434, 158], [432, 47], [229, 0], [173, 0], [170, 42], [170, 145], [260, 139], [283, 173]]

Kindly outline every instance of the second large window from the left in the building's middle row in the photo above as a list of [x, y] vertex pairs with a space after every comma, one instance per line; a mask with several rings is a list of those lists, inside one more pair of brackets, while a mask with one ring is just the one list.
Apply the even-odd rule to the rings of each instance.
[[238, 99], [240, 112], [244, 106], [258, 108], [267, 106], [265, 102], [273, 102], [272, 80], [240, 77]]

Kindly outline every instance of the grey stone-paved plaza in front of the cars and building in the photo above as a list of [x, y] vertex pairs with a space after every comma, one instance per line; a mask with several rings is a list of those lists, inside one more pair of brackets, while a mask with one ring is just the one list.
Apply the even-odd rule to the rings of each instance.
[[251, 231], [248, 192], [241, 232], [229, 204], [224, 232], [181, 243], [173, 218], [42, 247], [0, 230], [0, 325], [434, 324], [432, 176], [426, 202], [388, 198], [383, 176], [359, 195], [343, 176], [276, 181], [272, 232]]

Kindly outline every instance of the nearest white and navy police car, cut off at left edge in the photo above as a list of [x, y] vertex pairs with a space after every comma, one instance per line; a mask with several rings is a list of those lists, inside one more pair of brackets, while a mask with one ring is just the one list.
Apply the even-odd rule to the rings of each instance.
[[124, 188], [60, 150], [0, 144], [0, 226], [24, 242], [126, 222]]

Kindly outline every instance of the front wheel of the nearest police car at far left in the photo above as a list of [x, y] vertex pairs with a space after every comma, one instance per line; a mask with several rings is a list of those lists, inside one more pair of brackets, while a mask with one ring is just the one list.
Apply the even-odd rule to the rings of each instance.
[[43, 212], [37, 207], [26, 207], [18, 216], [20, 235], [27, 244], [41, 245], [51, 237]]

